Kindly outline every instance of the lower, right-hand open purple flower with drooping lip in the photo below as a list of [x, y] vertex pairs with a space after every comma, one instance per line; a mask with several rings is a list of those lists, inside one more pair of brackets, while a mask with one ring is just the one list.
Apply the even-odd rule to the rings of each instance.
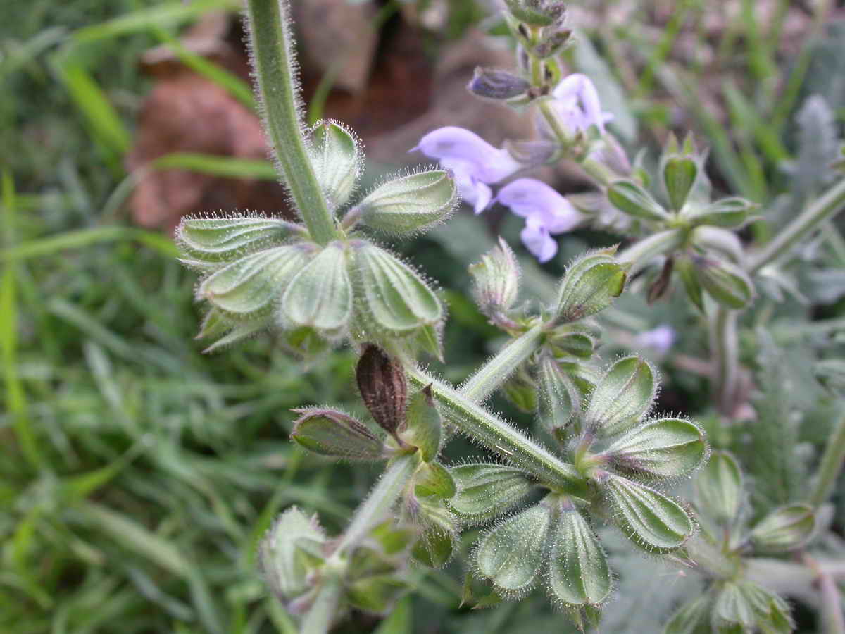
[[569, 200], [536, 178], [517, 178], [499, 189], [496, 200], [526, 219], [522, 243], [541, 262], [548, 262], [558, 252], [552, 235], [571, 231], [586, 220]]

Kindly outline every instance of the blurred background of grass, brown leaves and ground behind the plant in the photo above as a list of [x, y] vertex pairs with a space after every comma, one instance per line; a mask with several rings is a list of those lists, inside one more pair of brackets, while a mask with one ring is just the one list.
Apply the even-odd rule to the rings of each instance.
[[[701, 134], [716, 188], [764, 205], [770, 222], [746, 238], [766, 239], [825, 186], [838, 148], [820, 139], [836, 138], [845, 113], [845, 19], [835, 3], [570, 6], [580, 30], [571, 67], [596, 79], [624, 143], [645, 144], [653, 158], [669, 131]], [[406, 150], [438, 125], [474, 128], [493, 142], [518, 136], [526, 121], [504, 110], [492, 116], [463, 91], [474, 65], [510, 57], [494, 9], [493, 0], [297, 3], [308, 118], [357, 128], [375, 165], [370, 182], [416, 161]], [[303, 369], [272, 336], [214, 356], [193, 340], [195, 276], [169, 240], [178, 217], [236, 207], [286, 213], [232, 12], [232, 0], [0, 6], [0, 631], [296, 631], [266, 595], [256, 540], [292, 504], [339, 529], [377, 475], [306, 457], [287, 440], [291, 407], [357, 407], [350, 351]], [[802, 107], [815, 111], [802, 119]], [[563, 168], [539, 175], [564, 191], [584, 183]], [[466, 265], [496, 232], [516, 244], [518, 231], [501, 211], [462, 212], [395, 245], [450, 303], [449, 364], [439, 368], [450, 380], [498, 345], [467, 298]], [[613, 242], [591, 232], [564, 237], [543, 271], [523, 258], [526, 286], [542, 297], [570, 257]], [[804, 478], [804, 466], [778, 452], [799, 444], [809, 461], [831, 422], [833, 400], [813, 372], [819, 351], [842, 350], [845, 243], [831, 231], [815, 248], [826, 272], [815, 256], [796, 271], [807, 301], [787, 298], [775, 311], [765, 300], [744, 328], [744, 362], [760, 369], [756, 423], [711, 425], [714, 444], [733, 448], [758, 476], [761, 509], [790, 499]], [[680, 339], [662, 359], [661, 408], [712, 420], [706, 380], [690, 372], [707, 355], [701, 322], [683, 298], [647, 307], [641, 295], [616, 305], [605, 357], [631, 347], [638, 332], [673, 325]], [[803, 317], [823, 321], [806, 331], [793, 321]], [[532, 424], [503, 400], [494, 404]], [[777, 427], [788, 437], [771, 433], [778, 417], [789, 418]], [[764, 435], [767, 453], [749, 440]], [[449, 450], [453, 459], [474, 453], [461, 440]], [[837, 511], [840, 528], [841, 518]], [[605, 631], [657, 631], [695, 582], [618, 550], [619, 598]], [[568, 627], [543, 598], [462, 608], [460, 560], [419, 571], [417, 582], [387, 620], [358, 615], [346, 631]], [[813, 616], [800, 610], [813, 631]]]

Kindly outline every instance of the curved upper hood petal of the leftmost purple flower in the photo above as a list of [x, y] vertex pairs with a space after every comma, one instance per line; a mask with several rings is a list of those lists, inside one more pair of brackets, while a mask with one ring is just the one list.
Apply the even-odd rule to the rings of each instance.
[[474, 132], [455, 126], [429, 132], [414, 149], [441, 161], [466, 161], [470, 174], [482, 183], [497, 183], [521, 168], [507, 150], [498, 150]]

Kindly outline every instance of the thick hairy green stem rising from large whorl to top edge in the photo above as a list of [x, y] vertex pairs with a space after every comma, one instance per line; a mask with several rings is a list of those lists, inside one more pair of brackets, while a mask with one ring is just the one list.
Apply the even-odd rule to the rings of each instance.
[[287, 0], [248, 0], [247, 16], [262, 118], [276, 164], [311, 238], [329, 243], [337, 229], [303, 139]]

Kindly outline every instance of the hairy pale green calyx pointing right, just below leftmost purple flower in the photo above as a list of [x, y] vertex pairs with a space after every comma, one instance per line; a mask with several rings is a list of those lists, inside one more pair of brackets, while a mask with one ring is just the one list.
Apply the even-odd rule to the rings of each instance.
[[367, 227], [391, 236], [408, 236], [444, 221], [460, 200], [452, 172], [428, 170], [380, 185], [357, 210]]

